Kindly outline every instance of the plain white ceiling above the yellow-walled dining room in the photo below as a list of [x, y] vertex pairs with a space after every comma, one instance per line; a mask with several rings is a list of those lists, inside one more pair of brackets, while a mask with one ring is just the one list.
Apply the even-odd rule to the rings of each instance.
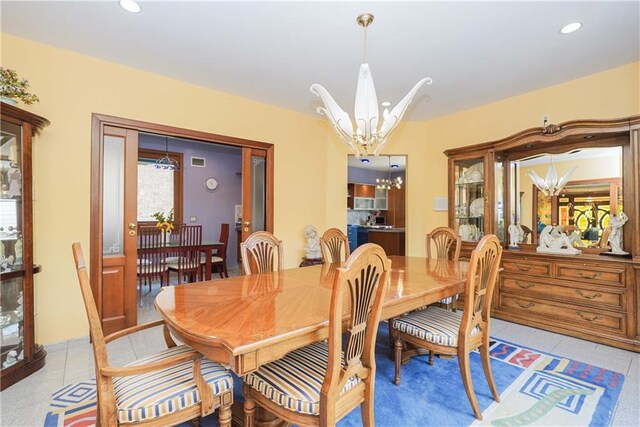
[[[316, 114], [320, 83], [351, 114], [363, 34], [378, 100], [432, 77], [405, 116], [424, 120], [640, 59], [640, 2], [1, 3], [2, 31]], [[580, 21], [583, 28], [560, 35]], [[18, 70], [19, 71], [19, 70]], [[26, 76], [28, 77], [28, 76]], [[37, 91], [37, 88], [34, 88]]]

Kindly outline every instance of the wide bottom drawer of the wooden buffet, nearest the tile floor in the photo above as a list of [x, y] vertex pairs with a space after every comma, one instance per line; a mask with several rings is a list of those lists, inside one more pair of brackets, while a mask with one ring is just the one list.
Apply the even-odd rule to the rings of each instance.
[[605, 313], [588, 307], [567, 306], [536, 299], [521, 298], [517, 295], [500, 295], [500, 308], [517, 313], [519, 316], [528, 315], [545, 322], [558, 322], [558, 326], [579, 326], [586, 329], [605, 329], [616, 333], [624, 333], [625, 315]]

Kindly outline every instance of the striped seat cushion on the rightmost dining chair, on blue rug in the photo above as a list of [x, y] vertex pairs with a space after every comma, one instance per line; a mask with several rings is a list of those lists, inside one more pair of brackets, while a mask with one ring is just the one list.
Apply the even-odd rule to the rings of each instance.
[[[457, 347], [461, 321], [462, 312], [460, 311], [430, 306], [394, 320], [393, 329], [434, 344]], [[476, 326], [471, 331], [471, 335], [475, 335], [478, 331]]]

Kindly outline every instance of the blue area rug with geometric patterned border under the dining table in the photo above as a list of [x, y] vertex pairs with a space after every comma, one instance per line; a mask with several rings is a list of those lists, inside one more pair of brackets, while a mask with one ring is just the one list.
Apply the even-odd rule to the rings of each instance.
[[[393, 384], [394, 362], [386, 323], [376, 345], [375, 423], [377, 426], [554, 425], [608, 426], [622, 389], [619, 372], [554, 356], [494, 339], [491, 367], [501, 403], [495, 403], [484, 378], [480, 355], [471, 354], [471, 372], [482, 422], [473, 411], [462, 385], [456, 359], [414, 357], [402, 367], [400, 386]], [[242, 381], [235, 377], [234, 398], [242, 402]], [[203, 426], [218, 425], [217, 412]], [[45, 426], [95, 424], [95, 382], [71, 384], [52, 396]], [[190, 423], [183, 424], [185, 427]], [[354, 410], [339, 426], [361, 426]]]

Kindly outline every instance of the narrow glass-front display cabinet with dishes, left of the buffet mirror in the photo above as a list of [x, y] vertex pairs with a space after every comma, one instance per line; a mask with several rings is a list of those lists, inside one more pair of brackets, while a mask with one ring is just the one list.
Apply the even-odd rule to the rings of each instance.
[[504, 242], [505, 161], [493, 152], [449, 156], [449, 226], [463, 242], [475, 244], [485, 234]]

